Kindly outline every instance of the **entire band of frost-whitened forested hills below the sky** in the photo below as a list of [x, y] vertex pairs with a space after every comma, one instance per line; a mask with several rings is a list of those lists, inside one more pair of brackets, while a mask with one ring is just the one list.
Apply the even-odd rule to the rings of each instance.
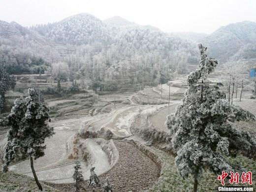
[[39, 73], [62, 62], [68, 76], [93, 83], [157, 85], [168, 78], [166, 70], [186, 74], [198, 62], [199, 42], [211, 47], [211, 56], [221, 63], [253, 59], [256, 23], [230, 24], [207, 35], [165, 33], [118, 16], [101, 21], [90, 14], [30, 28], [0, 21], [0, 62], [7, 72]]

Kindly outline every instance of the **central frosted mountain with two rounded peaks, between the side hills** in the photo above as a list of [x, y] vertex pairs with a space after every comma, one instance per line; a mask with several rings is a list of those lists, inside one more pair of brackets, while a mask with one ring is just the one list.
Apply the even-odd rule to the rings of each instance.
[[[90, 14], [78, 14], [60, 22], [38, 25], [32, 30], [45, 38], [73, 46], [100, 43], [102, 46], [112, 45], [124, 57], [131, 57], [140, 52], [164, 54], [183, 49], [190, 57], [191, 43], [179, 37], [171, 36], [152, 26], [141, 26], [121, 17], [115, 16], [104, 21]], [[194, 60], [194, 59], [193, 59]]]

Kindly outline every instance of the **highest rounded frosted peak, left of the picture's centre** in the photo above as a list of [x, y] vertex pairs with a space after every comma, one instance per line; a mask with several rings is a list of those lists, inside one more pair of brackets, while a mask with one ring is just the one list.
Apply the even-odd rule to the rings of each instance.
[[74, 15], [53, 24], [38, 25], [32, 29], [57, 42], [73, 45], [107, 43], [110, 40], [106, 25], [87, 13]]

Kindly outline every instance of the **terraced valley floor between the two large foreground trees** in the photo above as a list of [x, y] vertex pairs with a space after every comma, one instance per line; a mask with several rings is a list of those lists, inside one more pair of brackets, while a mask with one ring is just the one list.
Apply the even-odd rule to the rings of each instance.
[[[167, 171], [165, 174], [169, 174], [172, 170], [163, 163], [173, 157], [161, 150], [166, 146], [160, 140], [159, 144], [155, 143], [143, 130], [149, 128], [156, 129], [156, 133], [168, 133], [166, 116], [175, 113], [176, 107], [181, 104], [186, 90], [185, 78], [170, 81], [169, 85], [170, 103], [169, 86], [166, 84], [146, 87], [133, 93], [97, 95], [88, 92], [46, 99], [51, 109], [49, 125], [54, 128], [55, 134], [45, 140], [45, 156], [34, 161], [38, 179], [53, 189], [70, 191], [73, 189], [70, 183], [73, 182], [74, 160], [80, 160], [86, 180], [90, 177], [90, 168], [96, 167], [95, 172], [100, 180], [111, 178], [117, 191], [157, 189], [157, 186], [163, 185], [159, 179], [160, 172]], [[13, 93], [12, 96], [19, 95]], [[235, 99], [234, 103], [256, 114], [254, 107], [248, 106], [249, 103], [250, 106], [256, 106], [256, 102], [252, 101], [243, 98], [242, 102]], [[251, 125], [256, 126], [255, 123]], [[255, 132], [254, 129], [246, 129]], [[163, 153], [164, 159], [161, 159]], [[14, 163], [9, 170], [32, 177], [29, 160]], [[124, 174], [126, 179], [120, 180]], [[170, 175], [164, 177], [168, 179]], [[83, 188], [89, 190], [87, 185]]]

